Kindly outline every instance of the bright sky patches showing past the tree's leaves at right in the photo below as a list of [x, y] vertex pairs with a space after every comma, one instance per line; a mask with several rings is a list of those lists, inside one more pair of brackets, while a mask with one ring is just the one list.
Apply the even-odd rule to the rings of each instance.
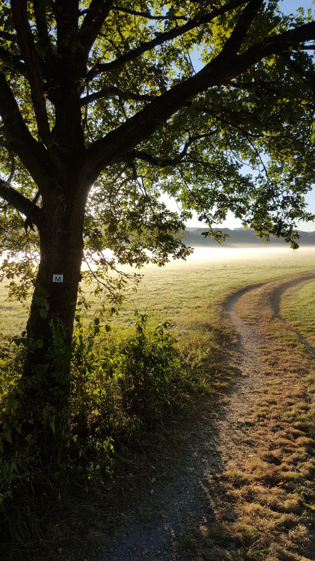
[[[312, 0], [280, 0], [280, 10], [284, 13], [294, 13], [297, 11], [297, 8], [303, 7], [305, 10], [307, 8], [313, 8], [315, 10], [315, 6]], [[163, 196], [162, 200], [168, 206], [170, 210], [174, 212], [178, 211], [178, 206], [175, 201], [169, 199], [168, 196]], [[309, 212], [315, 214], [315, 185], [312, 191], [309, 191], [307, 195], [305, 195], [305, 201], [308, 204]], [[187, 220], [186, 222], [187, 227], [191, 228], [201, 228], [205, 226], [202, 222], [198, 221], [197, 214], [194, 214], [194, 217], [191, 220]], [[242, 227], [242, 222], [238, 218], [235, 218], [234, 215], [229, 211], [228, 218], [221, 224], [223, 228], [240, 228]], [[303, 230], [305, 232], [312, 232], [315, 231], [315, 221], [314, 222], [299, 222], [298, 229]]]

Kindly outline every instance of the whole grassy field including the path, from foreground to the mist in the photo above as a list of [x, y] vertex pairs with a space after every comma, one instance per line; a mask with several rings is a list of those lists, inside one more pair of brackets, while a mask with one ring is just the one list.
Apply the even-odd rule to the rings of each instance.
[[[188, 561], [311, 561], [314, 362], [290, 326], [315, 343], [315, 282], [282, 295], [288, 325], [275, 318], [272, 295], [288, 278], [315, 274], [314, 256], [315, 248], [202, 248], [186, 263], [144, 268], [110, 336], [118, 346], [132, 337], [136, 310], [172, 320], [186, 372], [158, 388], [164, 402], [149, 425], [140, 409], [122, 408], [123, 385], [114, 391], [112, 479], [89, 493], [53, 484], [49, 498], [45, 490], [35, 503], [9, 504], [5, 559], [169, 561], [171, 547]], [[229, 296], [266, 281], [239, 298], [233, 319]], [[3, 286], [0, 305], [2, 334], [20, 332], [26, 307], [7, 302]]]

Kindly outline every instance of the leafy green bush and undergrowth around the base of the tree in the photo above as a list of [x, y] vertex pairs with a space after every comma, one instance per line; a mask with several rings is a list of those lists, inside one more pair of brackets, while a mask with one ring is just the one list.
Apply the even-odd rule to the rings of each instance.
[[[2, 498], [10, 495], [12, 485], [38, 487], [45, 482], [47, 470], [54, 480], [61, 472], [71, 472], [85, 485], [92, 478], [104, 477], [111, 469], [113, 444], [131, 442], [178, 400], [188, 379], [193, 385], [175, 349], [177, 339], [170, 322], [156, 324], [141, 314], [135, 331], [122, 334], [100, 317], [87, 322], [87, 306], [79, 304], [72, 347], [64, 345], [62, 325], [51, 322], [53, 346], [45, 365], [31, 378], [21, 376], [19, 369], [24, 351], [38, 342], [24, 332], [14, 339], [15, 351], [12, 343], [2, 343]], [[68, 352], [72, 355], [71, 394], [61, 411], [54, 403], [62, 387], [58, 372], [63, 372]], [[48, 365], [52, 364], [54, 377], [49, 378]], [[39, 380], [41, 386], [43, 380], [50, 384], [47, 403], [38, 393]]]

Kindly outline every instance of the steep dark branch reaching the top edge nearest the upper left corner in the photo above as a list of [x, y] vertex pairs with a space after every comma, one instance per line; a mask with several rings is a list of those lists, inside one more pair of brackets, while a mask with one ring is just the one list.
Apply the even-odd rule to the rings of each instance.
[[11, 8], [18, 43], [31, 86], [31, 99], [34, 105], [38, 132], [41, 139], [48, 144], [50, 142], [49, 122], [38, 56], [27, 17], [27, 0], [11, 0]]

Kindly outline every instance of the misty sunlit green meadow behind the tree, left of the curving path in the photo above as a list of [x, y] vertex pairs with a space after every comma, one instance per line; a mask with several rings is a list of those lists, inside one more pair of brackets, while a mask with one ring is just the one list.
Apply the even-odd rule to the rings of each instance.
[[[175, 321], [180, 331], [193, 318], [198, 318], [205, 305], [211, 309], [211, 303], [226, 293], [247, 284], [313, 269], [315, 249], [291, 251], [284, 246], [282, 251], [266, 252], [257, 248], [243, 254], [237, 251], [233, 254], [224, 248], [215, 252], [198, 249], [197, 255], [200, 253], [201, 258], [173, 261], [164, 268], [152, 265], [143, 268], [137, 293], [131, 293], [116, 321], [129, 326], [135, 323], [135, 310], [150, 311], [160, 319]], [[84, 286], [84, 290], [90, 297], [91, 287]], [[95, 300], [91, 311], [96, 311], [100, 303]], [[3, 282], [0, 284], [0, 333], [19, 334], [26, 320], [27, 305], [8, 302]]]

